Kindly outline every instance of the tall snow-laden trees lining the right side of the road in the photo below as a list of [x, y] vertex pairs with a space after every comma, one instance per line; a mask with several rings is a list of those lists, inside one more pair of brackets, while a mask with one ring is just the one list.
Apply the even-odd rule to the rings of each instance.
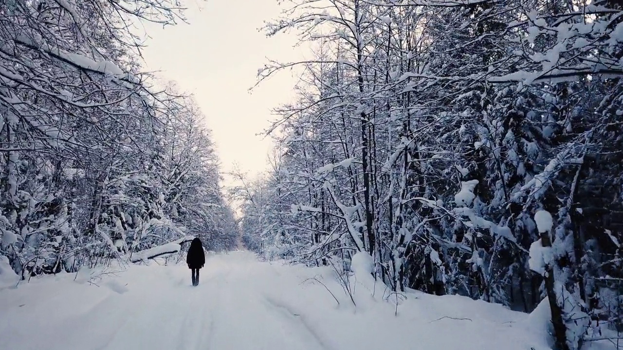
[[619, 2], [296, 0], [265, 29], [315, 54], [260, 69], [304, 73], [272, 168], [239, 189], [245, 244], [347, 269], [366, 251], [395, 291], [543, 300], [558, 349], [623, 330]]

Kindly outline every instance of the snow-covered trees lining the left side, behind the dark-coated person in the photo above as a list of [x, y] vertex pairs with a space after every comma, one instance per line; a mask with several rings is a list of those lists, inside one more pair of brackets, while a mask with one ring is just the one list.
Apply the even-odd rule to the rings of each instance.
[[197, 235], [235, 247], [219, 163], [193, 99], [141, 72], [138, 21], [176, 0], [0, 4], [0, 258], [73, 272]]

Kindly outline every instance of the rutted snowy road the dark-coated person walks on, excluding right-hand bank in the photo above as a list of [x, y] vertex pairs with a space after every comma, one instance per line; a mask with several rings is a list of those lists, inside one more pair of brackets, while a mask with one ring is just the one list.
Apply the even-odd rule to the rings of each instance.
[[184, 265], [133, 267], [118, 279], [94, 281], [99, 288], [26, 285], [25, 293], [11, 295], [17, 303], [0, 303], [0, 343], [4, 349], [324, 349], [296, 316], [265, 298], [258, 273], [277, 272], [250, 253], [234, 252], [209, 258], [197, 287]]

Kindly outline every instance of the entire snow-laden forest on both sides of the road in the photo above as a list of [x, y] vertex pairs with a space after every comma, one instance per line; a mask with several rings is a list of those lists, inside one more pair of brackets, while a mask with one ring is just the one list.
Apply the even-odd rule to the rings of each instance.
[[623, 2], [280, 4], [262, 30], [312, 52], [257, 71], [300, 74], [297, 98], [264, 131], [269, 171], [225, 189], [195, 97], [143, 65], [136, 24], [184, 22], [184, 1], [0, 2], [0, 267], [78, 276], [200, 237], [348, 291], [358, 255], [397, 304], [545, 310], [557, 350], [619, 348]]

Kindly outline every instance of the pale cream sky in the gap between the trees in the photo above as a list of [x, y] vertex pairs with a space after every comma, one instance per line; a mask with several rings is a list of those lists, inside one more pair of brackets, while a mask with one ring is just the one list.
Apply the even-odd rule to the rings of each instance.
[[270, 125], [271, 108], [292, 100], [297, 79], [283, 71], [253, 92], [248, 89], [266, 57], [288, 62], [305, 52], [293, 48], [293, 35], [267, 38], [258, 31], [278, 16], [277, 0], [186, 0], [186, 6], [189, 24], [145, 25], [151, 37], [143, 51], [145, 68], [161, 71], [159, 77], [194, 94], [212, 130], [222, 171], [237, 162], [254, 176], [267, 168], [272, 147], [269, 138], [255, 134]]

